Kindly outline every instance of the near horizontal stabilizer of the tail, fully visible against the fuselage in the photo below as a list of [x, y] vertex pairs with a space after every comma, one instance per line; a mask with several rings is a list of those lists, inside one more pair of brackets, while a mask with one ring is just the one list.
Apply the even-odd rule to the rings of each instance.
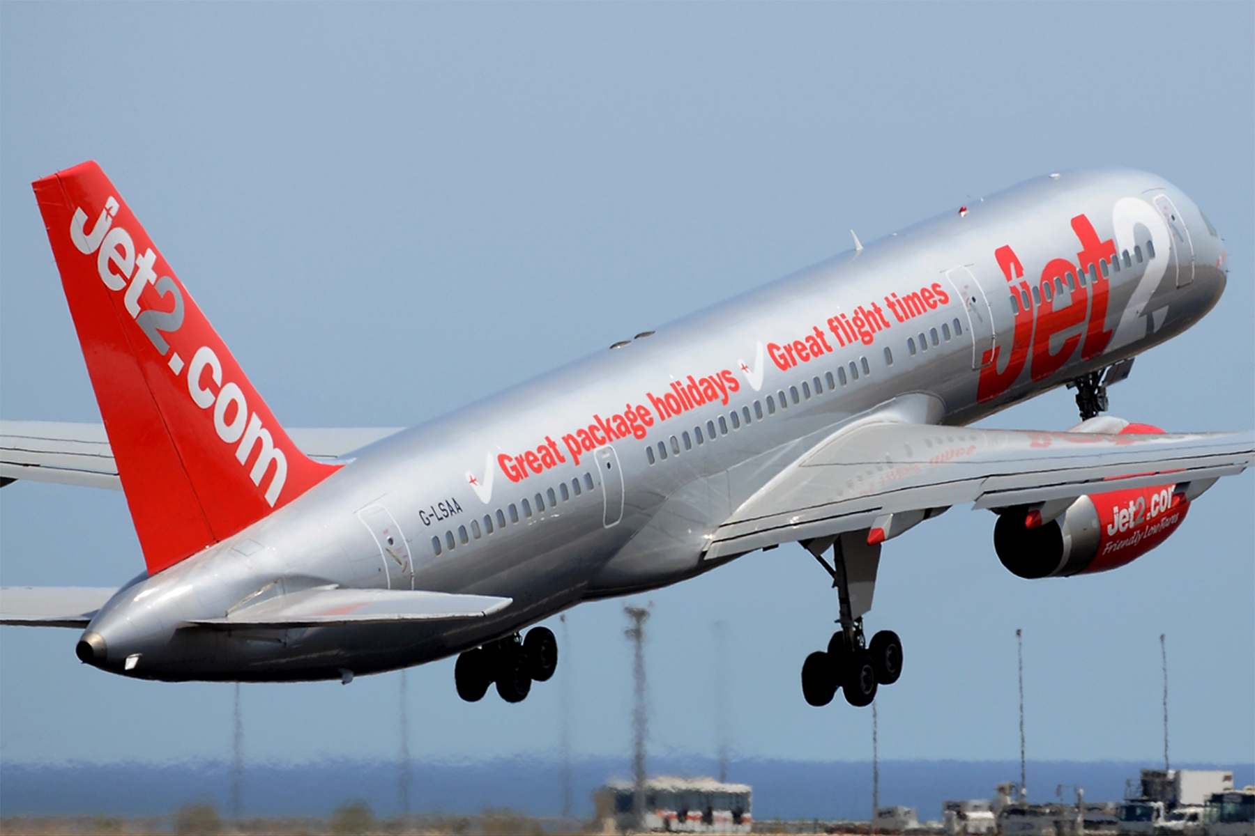
[[216, 629], [290, 628], [483, 618], [505, 609], [512, 600], [409, 589], [320, 587], [271, 598], [226, 618], [188, 622], [188, 625]]

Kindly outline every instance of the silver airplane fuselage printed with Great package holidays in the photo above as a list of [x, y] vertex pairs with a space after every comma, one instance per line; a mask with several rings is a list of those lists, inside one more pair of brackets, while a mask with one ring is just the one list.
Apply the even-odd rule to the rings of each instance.
[[[1087, 282], [1079, 300], [1064, 274], [1063, 298], [1052, 292], [1055, 303], [1059, 310], [1069, 300], [1088, 306], [1084, 321], [1047, 338], [1035, 353], [1030, 348], [1014, 379], [989, 384], [995, 375], [986, 368], [986, 385], [978, 386], [986, 350], [998, 348], [994, 371], [1005, 370], [1014, 353], [1010, 293], [1019, 296], [1020, 282], [1035, 288], [1020, 298], [1037, 295], [1037, 322], [1047, 303], [1043, 271], [1062, 269], [1055, 259], [1082, 269], [1084, 247], [1072, 226], [1082, 214], [1099, 239], [1114, 242], [1121, 258], [1121, 268], [1099, 280], [1107, 296], [1098, 330], [1111, 336], [1087, 343], [1098, 293]], [[998, 254], [1004, 247], [1012, 248], [1014, 264], [1007, 251]], [[447, 657], [581, 600], [656, 588], [725, 562], [703, 555], [732, 511], [833, 429], [895, 396], [932, 395], [944, 405], [943, 424], [969, 424], [1180, 333], [1216, 303], [1225, 278], [1220, 238], [1194, 202], [1163, 179], [1102, 170], [1029, 180], [361, 449], [270, 516], [133, 580], [89, 630], [107, 642], [102, 667], [157, 679], [340, 678], [345, 671], [363, 674]], [[919, 296], [934, 285], [941, 293]], [[916, 298], [904, 301], [911, 293]], [[880, 321], [870, 345], [856, 325], [848, 331], [842, 325], [862, 318], [860, 308]], [[863, 332], [870, 330], [865, 322]], [[853, 343], [841, 346], [850, 335]], [[811, 357], [808, 337], [822, 355]], [[1101, 351], [1086, 348], [1098, 342]], [[670, 386], [693, 384], [700, 391], [702, 379], [724, 371], [737, 390], [720, 377], [724, 391], [705, 404]], [[719, 390], [717, 382], [705, 387], [708, 395]], [[663, 419], [669, 394], [683, 409]], [[626, 434], [605, 444], [604, 425], [614, 435], [612, 416], [638, 406], [653, 420], [644, 437]], [[580, 446], [580, 430], [595, 450]], [[565, 436], [577, 439], [577, 464]], [[542, 447], [553, 466], [541, 461]], [[527, 476], [515, 481], [520, 471]], [[389, 519], [404, 548], [380, 549], [371, 526]], [[329, 584], [476, 593], [513, 603], [459, 622], [186, 627]], [[124, 671], [134, 654], [138, 664]]]

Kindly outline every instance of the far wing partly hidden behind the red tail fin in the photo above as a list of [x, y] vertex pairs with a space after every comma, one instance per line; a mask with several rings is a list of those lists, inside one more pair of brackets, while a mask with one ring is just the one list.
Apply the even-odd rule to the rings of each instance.
[[[333, 461], [399, 427], [294, 429], [301, 452]], [[0, 421], [0, 486], [18, 479], [120, 490], [103, 424]]]

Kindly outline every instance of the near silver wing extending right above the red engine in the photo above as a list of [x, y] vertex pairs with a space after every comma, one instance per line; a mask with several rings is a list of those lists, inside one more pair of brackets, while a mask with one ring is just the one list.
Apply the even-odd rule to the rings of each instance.
[[[905, 529], [951, 505], [998, 509], [1241, 473], [1255, 432], [1133, 435], [871, 422], [821, 442], [750, 496], [707, 558], [843, 531]], [[1108, 481], [1113, 480], [1113, 481]], [[1200, 491], [1201, 493], [1201, 491]], [[887, 536], [892, 536], [885, 528]]]

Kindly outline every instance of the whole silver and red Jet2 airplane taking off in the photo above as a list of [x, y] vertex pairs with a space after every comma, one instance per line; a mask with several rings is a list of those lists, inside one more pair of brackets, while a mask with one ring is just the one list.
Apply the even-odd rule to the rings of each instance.
[[[1104, 415], [1201, 320], [1225, 244], [1180, 189], [1054, 173], [835, 256], [408, 430], [285, 431], [94, 162], [33, 184], [102, 425], [0, 422], [0, 483], [119, 489], [146, 570], [6, 588], [0, 623], [158, 681], [350, 682], [457, 656], [467, 701], [553, 676], [538, 622], [801, 543], [836, 588], [803, 698], [867, 706], [884, 544], [996, 515], [1023, 578], [1106, 572], [1242, 471], [1255, 434]], [[973, 422], [1062, 386], [1067, 430]], [[528, 629], [530, 628], [530, 629]]]

